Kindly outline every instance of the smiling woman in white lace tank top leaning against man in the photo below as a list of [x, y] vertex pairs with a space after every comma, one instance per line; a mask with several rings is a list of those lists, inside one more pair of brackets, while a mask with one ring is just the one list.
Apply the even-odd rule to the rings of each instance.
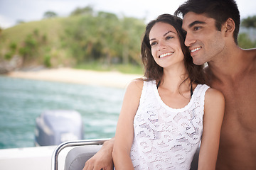
[[124, 95], [112, 151], [115, 169], [190, 169], [200, 142], [198, 167], [215, 169], [224, 98], [203, 84], [203, 66], [193, 64], [181, 26], [181, 18], [169, 14], [146, 26], [145, 79], [132, 81]]

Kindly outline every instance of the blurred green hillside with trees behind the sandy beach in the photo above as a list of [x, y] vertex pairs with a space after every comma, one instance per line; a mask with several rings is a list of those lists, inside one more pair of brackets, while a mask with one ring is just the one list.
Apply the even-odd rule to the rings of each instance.
[[2, 30], [0, 62], [8, 63], [16, 57], [21, 61], [16, 67], [21, 68], [111, 69], [114, 65], [118, 69], [122, 68], [119, 65], [132, 65], [142, 72], [140, 44], [144, 28], [142, 20], [118, 18], [106, 12], [21, 23]]

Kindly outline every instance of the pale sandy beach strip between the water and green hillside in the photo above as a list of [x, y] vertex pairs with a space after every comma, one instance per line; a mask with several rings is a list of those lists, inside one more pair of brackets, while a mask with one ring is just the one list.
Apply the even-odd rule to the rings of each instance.
[[60, 81], [74, 84], [94, 86], [110, 86], [126, 88], [133, 79], [141, 78], [139, 74], [122, 74], [119, 72], [96, 72], [82, 69], [41, 69], [38, 71], [15, 71], [7, 74], [8, 77], [21, 79], [36, 79], [46, 81]]

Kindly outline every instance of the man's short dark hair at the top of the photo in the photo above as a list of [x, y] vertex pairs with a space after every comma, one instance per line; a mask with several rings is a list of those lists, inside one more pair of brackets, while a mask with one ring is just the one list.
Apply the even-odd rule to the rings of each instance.
[[232, 18], [235, 22], [235, 30], [233, 38], [238, 44], [238, 32], [240, 27], [240, 13], [238, 5], [234, 0], [188, 0], [178, 7], [174, 15], [193, 12], [198, 14], [206, 14], [209, 18], [215, 19], [215, 26], [217, 30], [221, 30], [221, 26], [228, 18]]

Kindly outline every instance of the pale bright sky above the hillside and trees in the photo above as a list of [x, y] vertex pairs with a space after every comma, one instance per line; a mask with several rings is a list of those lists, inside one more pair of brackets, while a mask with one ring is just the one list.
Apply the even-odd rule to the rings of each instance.
[[[162, 13], [173, 14], [186, 0], [0, 0], [0, 27], [15, 26], [17, 21], [39, 21], [46, 11], [68, 16], [75, 8], [92, 6], [117, 16], [144, 18], [151, 21]], [[241, 18], [256, 15], [255, 0], [237, 0]]]

